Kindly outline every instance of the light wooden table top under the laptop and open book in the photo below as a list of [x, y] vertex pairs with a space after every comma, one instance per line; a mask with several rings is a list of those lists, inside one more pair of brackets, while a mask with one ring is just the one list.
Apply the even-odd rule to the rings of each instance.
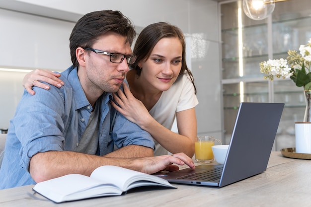
[[311, 160], [270, 156], [265, 172], [223, 188], [174, 184], [178, 189], [136, 190], [125, 196], [55, 204], [33, 185], [0, 190], [0, 207], [307, 207], [311, 206]]

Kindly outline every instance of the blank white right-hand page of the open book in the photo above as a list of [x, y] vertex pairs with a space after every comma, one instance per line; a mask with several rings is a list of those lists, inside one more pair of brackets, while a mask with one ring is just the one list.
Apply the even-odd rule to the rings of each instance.
[[118, 166], [105, 165], [98, 167], [90, 177], [113, 183], [124, 192], [132, 188], [152, 185], [175, 188], [162, 178]]

